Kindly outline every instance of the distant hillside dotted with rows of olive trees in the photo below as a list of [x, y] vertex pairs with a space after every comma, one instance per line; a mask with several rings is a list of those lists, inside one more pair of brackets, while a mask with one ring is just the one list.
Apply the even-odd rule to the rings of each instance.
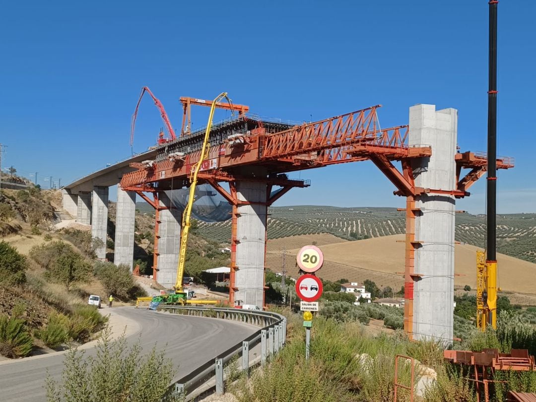
[[[289, 206], [271, 207], [269, 213], [269, 239], [330, 234], [341, 240], [356, 240], [405, 233], [404, 213], [395, 208]], [[229, 242], [230, 221], [199, 222], [198, 234]], [[485, 235], [485, 215], [456, 214], [457, 241], [481, 247]], [[497, 215], [497, 251], [536, 263], [536, 214]]]

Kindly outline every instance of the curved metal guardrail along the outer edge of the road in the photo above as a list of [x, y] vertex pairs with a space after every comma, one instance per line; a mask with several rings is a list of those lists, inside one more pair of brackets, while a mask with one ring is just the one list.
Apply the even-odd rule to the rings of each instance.
[[224, 393], [224, 366], [235, 355], [241, 356], [242, 370], [247, 371], [250, 366], [249, 349], [260, 343], [260, 363], [264, 365], [271, 356], [277, 354], [285, 345], [287, 319], [276, 312], [189, 306], [162, 306], [159, 307], [159, 310], [168, 311], [172, 314], [229, 319], [260, 327], [257, 332], [251, 334], [248, 338], [231, 346], [225, 352], [215, 356], [215, 359], [207, 361], [191, 371], [191, 373], [179, 378], [170, 386], [171, 392], [184, 394], [187, 399], [192, 391], [204, 385], [214, 376], [216, 378], [216, 393]]

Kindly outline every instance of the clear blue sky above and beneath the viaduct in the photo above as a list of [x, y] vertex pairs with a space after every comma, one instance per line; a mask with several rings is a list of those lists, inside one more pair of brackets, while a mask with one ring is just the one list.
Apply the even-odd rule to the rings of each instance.
[[[536, 212], [533, 16], [536, 3], [499, 4], [498, 212]], [[178, 97], [227, 91], [263, 116], [330, 117], [381, 103], [382, 127], [408, 108], [458, 109], [462, 151], [485, 151], [488, 2], [3, 2], [0, 13], [2, 165], [68, 183], [130, 155], [130, 117], [147, 85], [180, 126]], [[206, 111], [194, 110], [193, 126]], [[225, 117], [220, 111], [216, 119]], [[528, 117], [528, 118], [527, 118]], [[135, 152], [162, 125], [139, 111]], [[292, 174], [309, 178], [277, 205], [403, 206], [370, 162]], [[458, 208], [485, 210], [485, 180]]]

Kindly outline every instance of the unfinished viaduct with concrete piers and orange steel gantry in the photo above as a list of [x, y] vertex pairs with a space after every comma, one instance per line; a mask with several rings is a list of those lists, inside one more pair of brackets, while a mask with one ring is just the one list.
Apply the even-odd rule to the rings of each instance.
[[[155, 279], [172, 287], [182, 212], [166, 191], [190, 184], [204, 136], [204, 129], [190, 129], [190, 106], [206, 101], [181, 98], [184, 116], [176, 136], [163, 106], [153, 100], [169, 138], [161, 134], [154, 150], [71, 183], [63, 198], [65, 209], [91, 224], [93, 236], [106, 243], [108, 187], [119, 184], [114, 263], [129, 266], [136, 195], [145, 199], [156, 211]], [[382, 129], [379, 107], [291, 125], [235, 105], [237, 116], [212, 125], [209, 157], [198, 180], [232, 205], [231, 304], [242, 300], [264, 306], [267, 208], [289, 190], [310, 185], [289, 180], [286, 173], [370, 160], [392, 182], [394, 194], [406, 199], [404, 329], [413, 339], [452, 340], [456, 198], [468, 196], [471, 185], [486, 173], [487, 156], [458, 151], [456, 109], [415, 105], [409, 124]], [[497, 169], [510, 167], [512, 159], [496, 158]], [[105, 258], [105, 251], [99, 249], [98, 257]]]

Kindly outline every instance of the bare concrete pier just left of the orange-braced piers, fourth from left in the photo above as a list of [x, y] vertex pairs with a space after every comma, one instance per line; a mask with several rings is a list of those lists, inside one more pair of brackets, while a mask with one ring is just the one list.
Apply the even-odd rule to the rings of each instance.
[[136, 192], [117, 187], [114, 264], [125, 264], [132, 272]]

